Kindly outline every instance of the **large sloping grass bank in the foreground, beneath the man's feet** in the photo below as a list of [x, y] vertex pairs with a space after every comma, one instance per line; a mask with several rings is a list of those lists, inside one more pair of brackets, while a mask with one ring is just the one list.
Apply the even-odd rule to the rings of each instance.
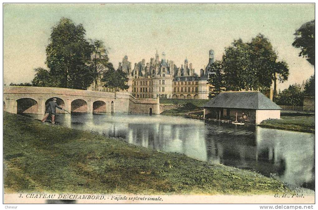
[[5, 192], [272, 194], [282, 182], [4, 113]]

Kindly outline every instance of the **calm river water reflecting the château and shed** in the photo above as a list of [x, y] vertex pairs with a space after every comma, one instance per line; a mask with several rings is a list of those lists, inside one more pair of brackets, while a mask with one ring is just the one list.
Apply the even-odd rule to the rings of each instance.
[[57, 114], [56, 122], [164, 152], [177, 152], [315, 190], [315, 135], [165, 115]]

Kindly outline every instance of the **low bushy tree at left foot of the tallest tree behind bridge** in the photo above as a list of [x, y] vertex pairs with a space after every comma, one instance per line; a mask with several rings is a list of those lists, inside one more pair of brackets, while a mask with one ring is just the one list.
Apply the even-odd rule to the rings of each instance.
[[32, 86], [38, 87], [60, 87], [62, 76], [52, 76], [50, 72], [44, 68], [34, 69], [36, 72], [32, 80]]

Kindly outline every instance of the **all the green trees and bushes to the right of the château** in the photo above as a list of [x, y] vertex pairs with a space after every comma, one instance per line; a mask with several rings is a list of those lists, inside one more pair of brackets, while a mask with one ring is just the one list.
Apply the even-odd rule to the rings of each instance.
[[[315, 20], [303, 24], [294, 33], [292, 46], [300, 48], [299, 56], [315, 67]], [[264, 91], [274, 83], [274, 101], [280, 105], [302, 105], [304, 96], [315, 96], [315, 74], [301, 91], [299, 84], [277, 94], [277, 81], [287, 81], [289, 68], [284, 60], [279, 60], [278, 52], [270, 41], [258, 34], [250, 42], [234, 40], [225, 48], [221, 60], [210, 67], [208, 83], [214, 86], [211, 95], [221, 91], [259, 90]]]

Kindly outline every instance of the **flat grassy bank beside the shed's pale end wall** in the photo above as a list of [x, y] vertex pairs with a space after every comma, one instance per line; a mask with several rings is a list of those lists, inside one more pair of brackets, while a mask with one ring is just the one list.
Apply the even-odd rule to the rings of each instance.
[[260, 126], [275, 129], [315, 133], [315, 113], [281, 111], [281, 119], [265, 120]]

